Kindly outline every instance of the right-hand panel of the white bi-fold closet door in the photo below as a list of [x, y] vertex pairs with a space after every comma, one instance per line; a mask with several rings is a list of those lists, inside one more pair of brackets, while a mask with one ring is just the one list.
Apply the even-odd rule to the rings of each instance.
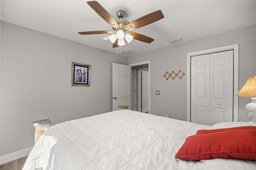
[[210, 125], [233, 121], [233, 50], [210, 54]]

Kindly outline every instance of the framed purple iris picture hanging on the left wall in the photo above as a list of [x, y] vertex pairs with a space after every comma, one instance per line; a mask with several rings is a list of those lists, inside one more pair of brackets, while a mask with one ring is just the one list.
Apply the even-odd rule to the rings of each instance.
[[72, 86], [90, 86], [91, 66], [72, 63]]

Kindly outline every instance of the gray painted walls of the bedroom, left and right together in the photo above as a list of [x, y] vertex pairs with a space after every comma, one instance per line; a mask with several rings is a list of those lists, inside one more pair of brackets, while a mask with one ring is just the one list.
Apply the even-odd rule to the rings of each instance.
[[[112, 62], [150, 60], [151, 113], [186, 120], [187, 75], [167, 81], [164, 73], [186, 74], [189, 52], [235, 43], [241, 88], [256, 75], [255, 25], [127, 58], [1, 21], [1, 156], [33, 146], [33, 121], [56, 124], [111, 111]], [[72, 62], [91, 65], [90, 87], [71, 86]], [[246, 121], [244, 106], [250, 102], [239, 98], [239, 121]]]

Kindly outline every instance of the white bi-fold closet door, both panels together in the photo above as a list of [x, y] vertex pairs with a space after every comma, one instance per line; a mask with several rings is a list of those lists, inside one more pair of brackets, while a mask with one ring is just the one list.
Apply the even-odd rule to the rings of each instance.
[[191, 122], [233, 121], [233, 50], [191, 57]]

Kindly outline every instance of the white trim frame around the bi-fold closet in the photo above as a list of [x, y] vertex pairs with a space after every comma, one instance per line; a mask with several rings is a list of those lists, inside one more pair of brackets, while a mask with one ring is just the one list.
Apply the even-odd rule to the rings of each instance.
[[187, 53], [187, 121], [191, 121], [191, 115], [190, 115], [190, 62], [191, 57], [194, 55], [202, 55], [206, 53], [214, 53], [214, 52], [220, 52], [225, 51], [229, 49], [234, 50], [234, 84], [233, 84], [233, 121], [238, 122], [238, 97], [236, 96], [236, 93], [238, 92], [238, 43], [233, 45], [227, 45], [223, 47], [217, 47], [212, 49], [206, 49], [202, 51], [196, 51], [192, 53]]

